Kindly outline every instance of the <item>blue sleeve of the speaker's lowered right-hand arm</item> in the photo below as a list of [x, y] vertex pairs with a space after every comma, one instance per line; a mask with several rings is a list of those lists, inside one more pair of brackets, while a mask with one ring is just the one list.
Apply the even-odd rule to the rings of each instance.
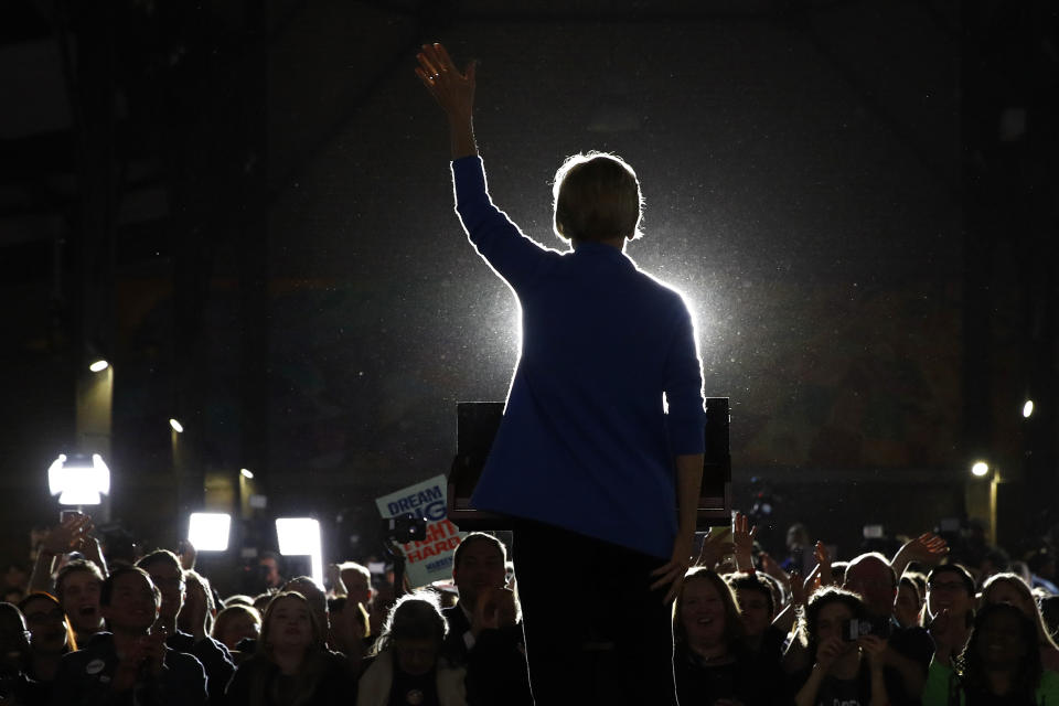
[[674, 456], [702, 453], [705, 449], [706, 413], [703, 404], [703, 364], [698, 360], [695, 324], [681, 302], [676, 330], [665, 364], [666, 425]]

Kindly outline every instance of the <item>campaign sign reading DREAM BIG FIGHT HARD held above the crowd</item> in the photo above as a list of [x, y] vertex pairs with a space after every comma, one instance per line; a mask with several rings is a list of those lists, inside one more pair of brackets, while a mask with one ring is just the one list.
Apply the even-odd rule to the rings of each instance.
[[447, 480], [436, 475], [375, 500], [384, 520], [413, 513], [426, 517], [427, 532], [419, 542], [400, 545], [405, 574], [413, 588], [452, 577], [452, 550], [462, 538], [449, 521], [445, 495]]

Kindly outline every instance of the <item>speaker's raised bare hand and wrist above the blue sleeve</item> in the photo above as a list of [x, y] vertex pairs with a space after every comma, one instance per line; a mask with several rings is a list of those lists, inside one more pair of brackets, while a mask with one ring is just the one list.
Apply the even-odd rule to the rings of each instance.
[[474, 62], [460, 73], [439, 43], [424, 44], [416, 75], [449, 118], [452, 159], [478, 154], [474, 145]]

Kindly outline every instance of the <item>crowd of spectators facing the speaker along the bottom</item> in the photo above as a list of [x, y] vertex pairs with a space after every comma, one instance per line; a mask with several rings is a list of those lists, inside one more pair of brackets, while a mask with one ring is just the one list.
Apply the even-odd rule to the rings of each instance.
[[[796, 526], [774, 560], [755, 537], [742, 515], [707, 533], [680, 587], [681, 704], [1059, 704], [1047, 543], [1026, 561], [974, 560], [927, 533], [890, 557], [839, 561]], [[261, 558], [272, 587], [221, 596], [180, 549], [108, 557], [86, 515], [47, 532], [32, 573], [7, 573], [23, 585], [0, 605], [0, 703], [534, 704], [517, 556], [491, 534], [463, 537], [450, 585], [397, 598], [354, 561], [331, 565], [327, 587], [285, 580], [275, 555]], [[556, 586], [575, 602], [610, 588]], [[612, 659], [635, 618], [614, 616], [575, 649]], [[569, 693], [565, 703], [618, 703], [591, 673]]]

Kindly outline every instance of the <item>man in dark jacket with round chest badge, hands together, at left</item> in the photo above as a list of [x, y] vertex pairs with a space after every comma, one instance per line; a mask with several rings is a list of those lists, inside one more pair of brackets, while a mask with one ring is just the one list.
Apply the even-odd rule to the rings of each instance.
[[116, 569], [103, 582], [99, 606], [110, 632], [101, 632], [62, 659], [55, 706], [202, 706], [206, 675], [193, 656], [165, 646], [151, 631], [161, 593], [140, 568]]

